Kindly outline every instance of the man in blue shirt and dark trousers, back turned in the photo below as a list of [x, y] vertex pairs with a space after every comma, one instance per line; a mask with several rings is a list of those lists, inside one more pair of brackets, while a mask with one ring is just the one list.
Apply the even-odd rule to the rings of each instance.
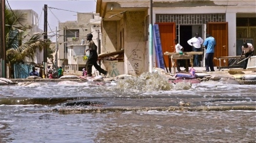
[[206, 53], [205, 53], [206, 72], [210, 72], [209, 67], [211, 69], [211, 72], [214, 72], [213, 56], [214, 56], [214, 48], [216, 46], [216, 41], [215, 41], [214, 37], [212, 37], [210, 34], [207, 34], [203, 45], [206, 49]]

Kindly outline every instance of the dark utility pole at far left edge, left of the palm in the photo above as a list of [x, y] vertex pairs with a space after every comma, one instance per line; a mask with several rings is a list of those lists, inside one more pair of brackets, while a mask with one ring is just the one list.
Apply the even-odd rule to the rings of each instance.
[[4, 78], [6, 77], [5, 50], [5, 0], [0, 0], [0, 77]]

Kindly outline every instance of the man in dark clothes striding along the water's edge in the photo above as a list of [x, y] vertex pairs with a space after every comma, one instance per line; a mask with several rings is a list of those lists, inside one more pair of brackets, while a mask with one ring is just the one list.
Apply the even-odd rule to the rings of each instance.
[[87, 34], [87, 40], [89, 41], [89, 49], [86, 49], [86, 51], [90, 51], [89, 57], [86, 62], [86, 71], [87, 76], [92, 76], [91, 74], [91, 67], [94, 66], [96, 70], [98, 70], [100, 73], [104, 74], [104, 78], [107, 76], [108, 72], [103, 70], [98, 64], [98, 53], [97, 53], [97, 46], [92, 41], [92, 34]]

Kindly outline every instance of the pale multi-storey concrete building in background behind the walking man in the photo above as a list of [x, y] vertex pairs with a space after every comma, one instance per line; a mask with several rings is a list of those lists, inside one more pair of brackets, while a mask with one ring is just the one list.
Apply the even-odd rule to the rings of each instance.
[[[92, 33], [92, 40], [98, 45], [97, 30], [100, 32], [100, 21], [101, 18], [97, 13], [77, 13], [77, 21], [59, 23], [59, 35], [62, 35], [62, 37], [58, 39], [58, 66], [64, 67], [70, 65], [70, 70], [79, 69], [78, 67], [80, 66], [74, 65], [76, 63], [74, 60], [76, 60], [75, 57], [77, 56], [85, 55], [85, 46], [81, 46], [81, 41], [84, 40], [85, 44], [87, 44], [86, 36]], [[79, 50], [79, 48], [81, 49]], [[81, 67], [84, 66], [85, 63], [81, 65]]]

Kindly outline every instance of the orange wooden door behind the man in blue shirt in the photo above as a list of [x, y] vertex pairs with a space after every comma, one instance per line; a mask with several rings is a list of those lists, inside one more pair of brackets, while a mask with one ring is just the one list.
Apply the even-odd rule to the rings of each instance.
[[[207, 33], [211, 34], [216, 40], [214, 57], [228, 56], [228, 23], [209, 22]], [[214, 66], [219, 66], [219, 61], [214, 60]], [[224, 64], [224, 60], [221, 60], [221, 66], [228, 66], [228, 59], [226, 59], [226, 64]]]

